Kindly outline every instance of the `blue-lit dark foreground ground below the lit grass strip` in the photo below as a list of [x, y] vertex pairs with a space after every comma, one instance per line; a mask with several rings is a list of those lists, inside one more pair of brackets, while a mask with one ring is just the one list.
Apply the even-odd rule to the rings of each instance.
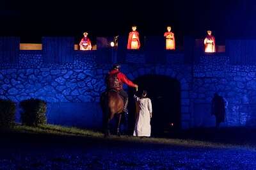
[[4, 134], [0, 169], [256, 169], [253, 147], [125, 138]]

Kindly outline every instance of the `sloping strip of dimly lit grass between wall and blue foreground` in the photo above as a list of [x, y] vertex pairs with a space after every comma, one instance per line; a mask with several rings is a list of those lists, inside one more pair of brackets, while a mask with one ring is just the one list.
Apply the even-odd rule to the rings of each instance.
[[[234, 129], [236, 132], [237, 130]], [[176, 146], [188, 146], [188, 147], [214, 147], [214, 148], [250, 148], [254, 149], [255, 144], [252, 139], [243, 138], [243, 141], [237, 141], [234, 136], [230, 137], [232, 133], [228, 132], [227, 129], [219, 130], [220, 132], [208, 130], [188, 130], [182, 131], [180, 134], [175, 135], [165, 135], [164, 137], [150, 137], [150, 138], [140, 138], [134, 137], [132, 135], [122, 135], [118, 137], [116, 135], [111, 135], [105, 138], [102, 132], [95, 130], [88, 130], [76, 127], [63, 127], [60, 125], [40, 125], [39, 127], [28, 127], [22, 125], [16, 125], [11, 130], [3, 131], [3, 134], [13, 135], [18, 134], [17, 137], [22, 138], [22, 136], [32, 135], [34, 139], [43, 140], [47, 137], [58, 137], [59, 139], [69, 139], [72, 141], [74, 137], [80, 140], [94, 140], [115, 143], [147, 143], [147, 144], [164, 144], [164, 145], [176, 145]], [[218, 133], [218, 135], [216, 135]], [[242, 133], [242, 132], [241, 132]], [[211, 135], [211, 137], [207, 137]], [[215, 136], [214, 136], [215, 135]], [[237, 137], [236, 134], [235, 137]], [[227, 139], [226, 139], [227, 138]], [[240, 137], [237, 137], [240, 139]], [[248, 138], [248, 136], [247, 136]], [[254, 139], [254, 138], [253, 138]], [[230, 143], [227, 143], [230, 141]], [[76, 143], [76, 140], [74, 140]]]

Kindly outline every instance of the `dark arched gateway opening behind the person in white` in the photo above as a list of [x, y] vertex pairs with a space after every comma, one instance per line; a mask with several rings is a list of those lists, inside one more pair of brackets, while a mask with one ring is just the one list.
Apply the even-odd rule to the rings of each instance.
[[[148, 91], [152, 100], [152, 135], [160, 135], [170, 130], [179, 130], [180, 125], [180, 82], [164, 75], [143, 75], [134, 80], [139, 92]], [[134, 90], [129, 89], [129, 129], [135, 124]], [[172, 126], [173, 123], [173, 126]]]

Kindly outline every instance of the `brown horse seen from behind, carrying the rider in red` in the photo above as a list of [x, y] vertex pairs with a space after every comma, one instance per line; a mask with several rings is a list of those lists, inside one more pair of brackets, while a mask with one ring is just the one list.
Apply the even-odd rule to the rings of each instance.
[[105, 137], [107, 137], [109, 132], [109, 121], [111, 121], [114, 116], [118, 115], [118, 123], [116, 134], [120, 136], [120, 122], [122, 118], [122, 112], [124, 109], [124, 100], [115, 90], [110, 90], [108, 92], [104, 92], [101, 95], [100, 103], [102, 107], [103, 116], [103, 127], [105, 130]]

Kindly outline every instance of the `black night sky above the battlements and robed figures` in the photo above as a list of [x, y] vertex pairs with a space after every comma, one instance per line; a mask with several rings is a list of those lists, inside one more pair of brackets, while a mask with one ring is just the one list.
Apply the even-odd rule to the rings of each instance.
[[170, 25], [178, 44], [183, 36], [204, 38], [212, 30], [217, 44], [227, 38], [256, 38], [256, 2], [216, 1], [0, 1], [0, 36], [40, 43], [42, 36], [128, 35], [136, 24], [141, 36], [163, 36]]

